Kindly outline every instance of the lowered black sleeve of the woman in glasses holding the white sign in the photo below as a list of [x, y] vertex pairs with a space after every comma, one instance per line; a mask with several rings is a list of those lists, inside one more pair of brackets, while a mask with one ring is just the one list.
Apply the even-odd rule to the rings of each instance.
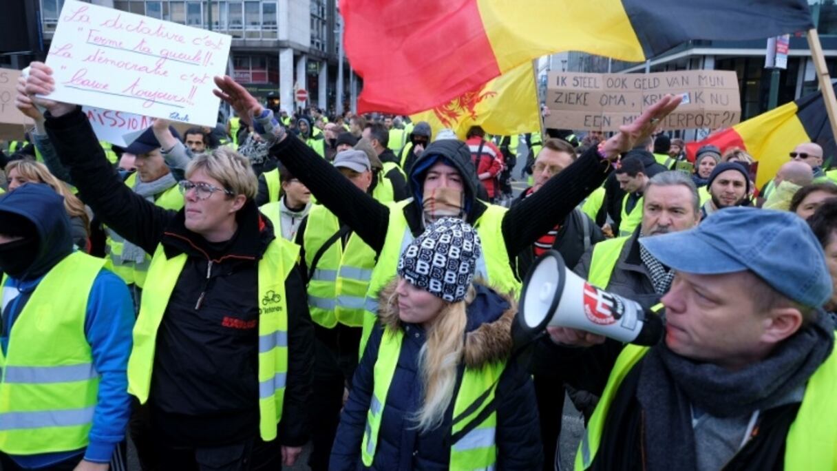
[[314, 370], [314, 323], [308, 312], [306, 287], [300, 267], [285, 280], [288, 309], [288, 382], [279, 422], [280, 443], [301, 447], [311, 435], [308, 404], [311, 398], [311, 372]]

